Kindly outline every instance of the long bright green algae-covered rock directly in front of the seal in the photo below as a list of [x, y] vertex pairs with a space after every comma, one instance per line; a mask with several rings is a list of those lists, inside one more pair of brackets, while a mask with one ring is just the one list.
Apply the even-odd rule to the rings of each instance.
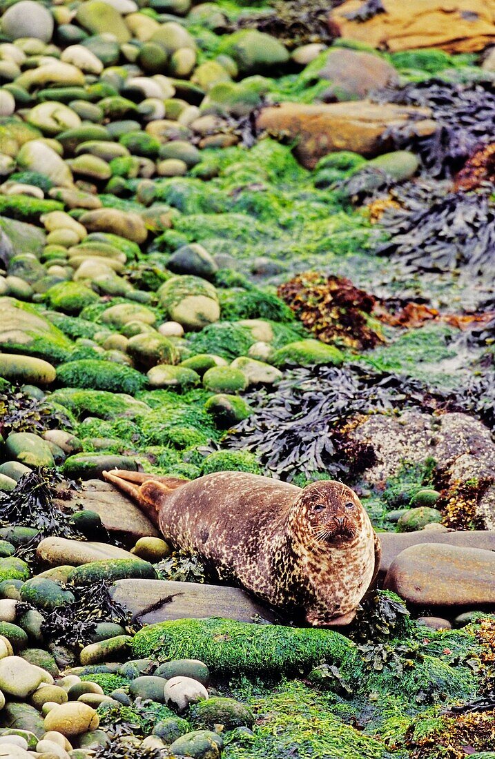
[[150, 625], [137, 632], [132, 646], [137, 657], [198, 659], [222, 674], [301, 672], [321, 660], [339, 665], [354, 650], [338, 632], [216, 617]]

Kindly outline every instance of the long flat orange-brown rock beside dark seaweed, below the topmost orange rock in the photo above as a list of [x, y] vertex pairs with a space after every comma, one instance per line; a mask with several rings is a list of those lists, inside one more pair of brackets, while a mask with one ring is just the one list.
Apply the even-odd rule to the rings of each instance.
[[393, 149], [386, 132], [405, 128], [415, 134], [433, 134], [437, 126], [427, 108], [377, 105], [369, 100], [320, 103], [306, 106], [284, 102], [265, 108], [257, 118], [257, 128], [276, 139], [297, 140], [295, 154], [307, 168], [337, 150], [352, 150], [371, 158]]

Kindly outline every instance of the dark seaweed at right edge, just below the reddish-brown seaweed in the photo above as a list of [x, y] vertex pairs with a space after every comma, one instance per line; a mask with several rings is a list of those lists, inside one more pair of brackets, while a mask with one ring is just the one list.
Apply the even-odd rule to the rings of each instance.
[[[495, 118], [495, 111], [493, 112]], [[430, 197], [431, 187], [409, 187], [401, 209], [387, 208], [381, 225], [391, 239], [378, 253], [411, 271], [453, 272], [493, 279], [495, 203], [487, 193]], [[394, 193], [392, 197], [394, 197]]]

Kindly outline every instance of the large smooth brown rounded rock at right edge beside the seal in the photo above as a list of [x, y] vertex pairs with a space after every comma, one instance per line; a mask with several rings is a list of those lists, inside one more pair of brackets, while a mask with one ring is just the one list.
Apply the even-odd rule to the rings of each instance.
[[495, 610], [495, 553], [481, 548], [422, 543], [393, 560], [384, 587], [422, 609]]

